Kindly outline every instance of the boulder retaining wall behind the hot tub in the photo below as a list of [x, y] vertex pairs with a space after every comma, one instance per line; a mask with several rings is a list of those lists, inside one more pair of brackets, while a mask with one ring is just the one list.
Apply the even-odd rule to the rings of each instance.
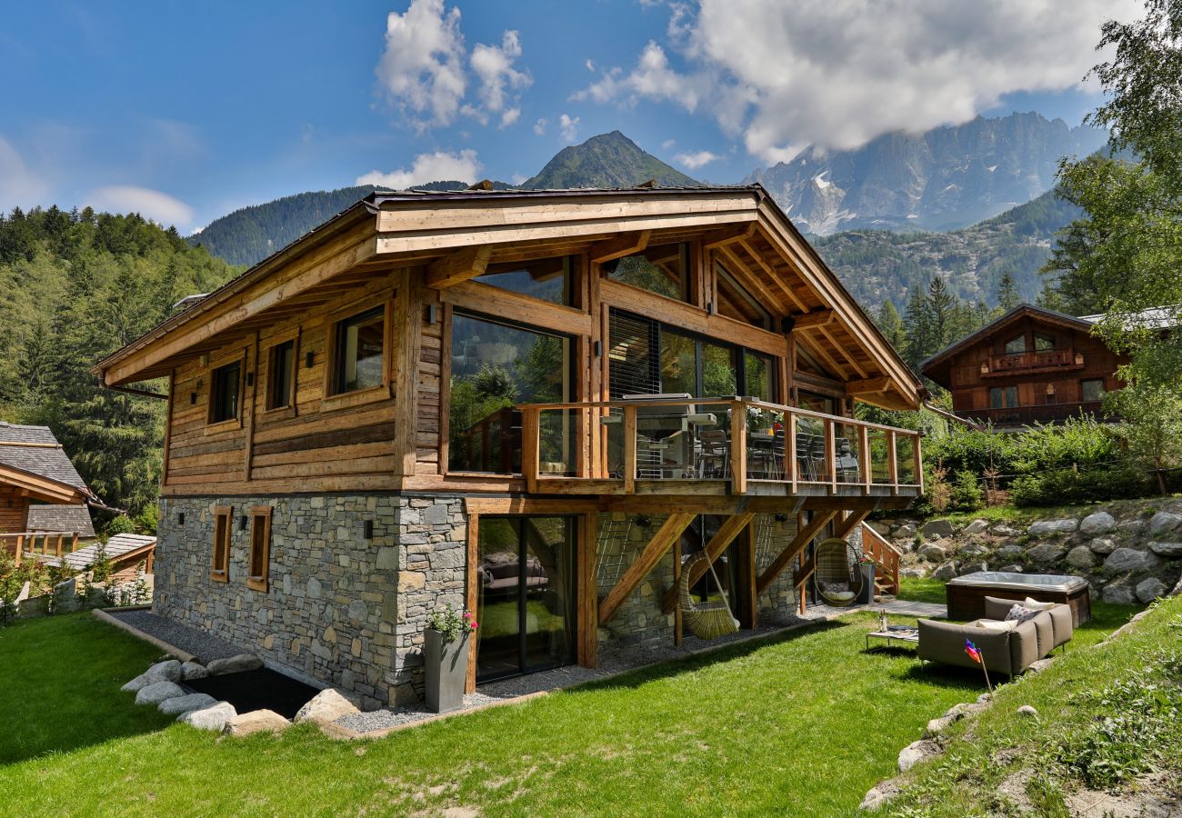
[[904, 576], [944, 582], [976, 571], [1083, 577], [1093, 598], [1148, 604], [1182, 592], [1182, 501], [1132, 500], [1015, 526], [973, 520], [871, 524], [905, 550]]

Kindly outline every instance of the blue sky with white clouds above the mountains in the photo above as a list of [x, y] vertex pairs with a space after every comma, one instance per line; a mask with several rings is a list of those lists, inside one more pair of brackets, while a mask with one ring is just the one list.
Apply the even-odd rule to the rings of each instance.
[[1131, 0], [8, 4], [0, 208], [138, 209], [191, 232], [371, 180], [521, 181], [622, 130], [736, 182], [976, 113], [1078, 124]]

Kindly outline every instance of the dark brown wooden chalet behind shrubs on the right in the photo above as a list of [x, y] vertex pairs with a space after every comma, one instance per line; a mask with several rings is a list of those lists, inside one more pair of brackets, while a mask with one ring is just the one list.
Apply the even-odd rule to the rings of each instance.
[[1022, 304], [921, 364], [953, 394], [953, 411], [1000, 429], [1103, 414], [1128, 358], [1091, 333], [1103, 316], [1073, 318]]

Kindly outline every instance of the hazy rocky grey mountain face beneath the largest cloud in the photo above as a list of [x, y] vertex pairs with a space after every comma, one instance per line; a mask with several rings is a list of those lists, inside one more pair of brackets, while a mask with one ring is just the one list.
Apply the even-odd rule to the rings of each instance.
[[818, 235], [950, 231], [1046, 193], [1060, 157], [1091, 154], [1106, 138], [1033, 112], [978, 117], [926, 134], [885, 134], [857, 150], [808, 148], [746, 182], [761, 182], [801, 229]]

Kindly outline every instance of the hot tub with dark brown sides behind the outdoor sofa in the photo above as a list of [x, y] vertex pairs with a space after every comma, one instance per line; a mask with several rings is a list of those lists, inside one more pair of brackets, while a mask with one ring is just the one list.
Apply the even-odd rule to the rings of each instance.
[[1014, 599], [1026, 597], [1039, 602], [1058, 602], [1071, 606], [1072, 624], [1078, 628], [1092, 618], [1087, 580], [1053, 573], [1013, 573], [978, 571], [956, 577], [946, 586], [948, 618], [979, 619], [985, 616], [985, 598]]

